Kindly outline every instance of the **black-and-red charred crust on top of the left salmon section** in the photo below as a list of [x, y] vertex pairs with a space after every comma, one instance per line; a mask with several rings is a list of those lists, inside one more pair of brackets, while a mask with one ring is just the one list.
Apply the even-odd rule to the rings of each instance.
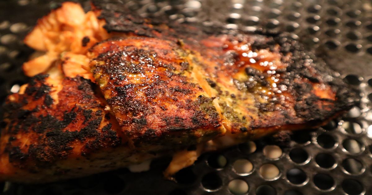
[[[10, 138], [4, 152], [9, 155], [10, 163], [36, 172], [67, 158], [77, 142], [85, 145], [81, 155], [86, 156], [102, 147], [121, 144], [112, 123], [102, 125], [107, 114], [103, 110], [105, 103], [90, 80], [65, 78], [64, 87], [58, 92], [59, 102], [55, 104], [50, 100], [51, 87], [45, 83], [46, 77], [32, 78], [25, 94], [13, 94], [15, 100], [6, 101], [6, 128], [3, 130]], [[84, 98], [87, 96], [90, 98]], [[29, 137], [32, 144], [19, 145], [15, 135], [31, 132], [37, 135]]]

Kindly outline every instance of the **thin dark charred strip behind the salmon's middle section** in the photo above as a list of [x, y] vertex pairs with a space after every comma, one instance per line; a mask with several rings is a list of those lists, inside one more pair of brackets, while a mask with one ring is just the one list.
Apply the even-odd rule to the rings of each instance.
[[[185, 24], [169, 21], [166, 16], [157, 16], [156, 18], [144, 19], [138, 13], [129, 10], [127, 6], [120, 1], [92, 1], [94, 7], [100, 10], [99, 19], [104, 19], [106, 25], [104, 28], [108, 32], [120, 32], [125, 34], [134, 34], [144, 37], [157, 37], [158, 34], [164, 35], [164, 39], [173, 40], [175, 44], [183, 47], [189, 43], [189, 37], [201, 37], [207, 34], [215, 34], [216, 31], [222, 31], [222, 26], [206, 28], [203, 25], [197, 25], [197, 28]], [[110, 7], [110, 9], [107, 9]], [[167, 26], [172, 31], [169, 31]], [[187, 29], [187, 30], [185, 30]]]

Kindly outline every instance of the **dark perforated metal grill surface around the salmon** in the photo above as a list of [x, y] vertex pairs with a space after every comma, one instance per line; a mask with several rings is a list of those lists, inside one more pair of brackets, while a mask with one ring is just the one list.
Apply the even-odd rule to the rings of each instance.
[[[280, 134], [202, 155], [164, 180], [169, 158], [46, 185], [5, 184], [5, 194], [372, 194], [372, 3], [369, 0], [122, 0], [143, 16], [290, 32], [361, 91], [360, 106], [317, 130]], [[58, 1], [59, 2], [59, 1]], [[0, 1], [0, 101], [27, 78], [22, 38], [57, 1]], [[89, 6], [87, 1], [83, 2]], [[0, 110], [1, 111], [1, 110]], [[284, 141], [283, 141], [284, 140]]]

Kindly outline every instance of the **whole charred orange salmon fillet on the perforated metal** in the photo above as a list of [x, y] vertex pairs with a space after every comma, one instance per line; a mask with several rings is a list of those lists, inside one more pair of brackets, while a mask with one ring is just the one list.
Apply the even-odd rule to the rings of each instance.
[[145, 19], [120, 1], [87, 13], [63, 3], [25, 43], [42, 54], [4, 105], [1, 180], [52, 182], [173, 155], [170, 177], [202, 152], [317, 128], [357, 99], [285, 35]]

